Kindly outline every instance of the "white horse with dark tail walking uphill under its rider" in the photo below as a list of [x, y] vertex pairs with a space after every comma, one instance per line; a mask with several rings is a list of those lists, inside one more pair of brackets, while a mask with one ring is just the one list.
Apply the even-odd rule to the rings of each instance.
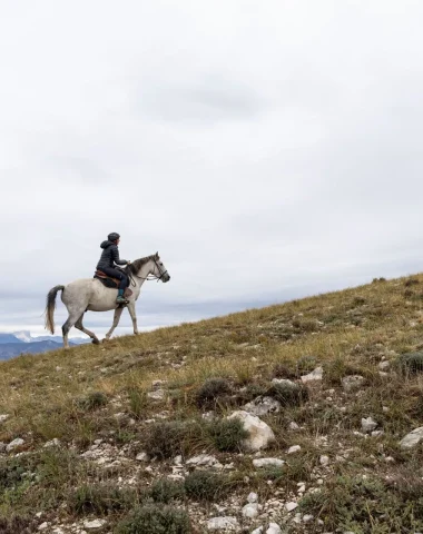
[[[129, 276], [130, 287], [132, 289], [132, 295], [127, 298], [127, 307], [132, 319], [134, 334], [138, 334], [135, 303], [139, 297], [142, 284], [147, 279], [157, 279], [157, 281], [161, 280], [166, 283], [170, 280], [170, 276], [166, 270], [166, 267], [163, 265], [158, 253], [153, 256], [147, 256], [146, 258], [136, 259], [125, 268], [125, 271], [127, 276]], [[149, 275], [151, 275], [153, 278], [148, 278]], [[82, 325], [82, 318], [86, 312], [108, 312], [115, 309], [114, 324], [111, 325], [110, 330], [106, 334], [106, 339], [110, 338], [115, 328], [119, 324], [125, 307], [116, 304], [116, 297], [118, 294], [117, 289], [105, 287], [97, 278], [83, 278], [71, 281], [67, 286], [56, 286], [50, 289], [47, 295], [46, 328], [50, 330], [51, 334], [55, 334], [53, 315], [56, 296], [60, 290], [62, 291], [61, 301], [68, 308], [69, 313], [68, 319], [61, 327], [65, 348], [69, 348], [68, 334], [72, 326], [87, 334], [92, 339], [92, 343], [100, 343], [96, 334], [87, 330]]]

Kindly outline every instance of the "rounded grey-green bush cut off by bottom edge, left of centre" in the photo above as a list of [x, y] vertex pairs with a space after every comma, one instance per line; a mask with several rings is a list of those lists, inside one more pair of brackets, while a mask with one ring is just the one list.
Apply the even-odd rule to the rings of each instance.
[[187, 513], [171, 506], [149, 504], [136, 508], [121, 521], [117, 534], [189, 534], [191, 526]]

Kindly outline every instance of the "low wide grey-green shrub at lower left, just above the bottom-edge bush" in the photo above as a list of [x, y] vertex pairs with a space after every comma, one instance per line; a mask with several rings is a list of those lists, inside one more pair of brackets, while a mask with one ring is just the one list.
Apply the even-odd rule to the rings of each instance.
[[68, 505], [79, 515], [105, 515], [112, 511], [129, 510], [136, 504], [134, 490], [119, 490], [111, 485], [83, 485], [69, 497]]

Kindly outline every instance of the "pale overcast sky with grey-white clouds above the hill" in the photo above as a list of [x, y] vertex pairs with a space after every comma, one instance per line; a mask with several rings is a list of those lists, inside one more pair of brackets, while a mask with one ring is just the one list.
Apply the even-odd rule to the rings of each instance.
[[46, 334], [46, 294], [92, 277], [110, 231], [171, 275], [145, 284], [141, 329], [421, 271], [422, 18], [412, 0], [3, 0], [0, 332]]

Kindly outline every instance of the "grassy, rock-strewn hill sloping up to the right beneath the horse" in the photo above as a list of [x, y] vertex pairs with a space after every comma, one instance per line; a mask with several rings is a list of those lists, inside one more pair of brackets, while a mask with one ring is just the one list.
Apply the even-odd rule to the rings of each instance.
[[0, 532], [422, 530], [422, 304], [377, 279], [0, 364]]

